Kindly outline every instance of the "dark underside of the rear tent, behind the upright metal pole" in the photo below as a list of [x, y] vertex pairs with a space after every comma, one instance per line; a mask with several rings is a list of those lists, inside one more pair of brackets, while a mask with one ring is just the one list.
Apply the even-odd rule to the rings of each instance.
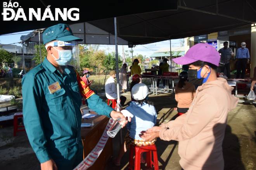
[[[212, 13], [217, 13], [214, 0], [184, 0], [178, 10], [118, 17], [118, 36], [132, 44], [147, 44], [234, 29], [256, 21], [256, 1], [218, 0], [219, 15]], [[89, 23], [113, 34], [113, 21], [114, 19], [110, 18]]]

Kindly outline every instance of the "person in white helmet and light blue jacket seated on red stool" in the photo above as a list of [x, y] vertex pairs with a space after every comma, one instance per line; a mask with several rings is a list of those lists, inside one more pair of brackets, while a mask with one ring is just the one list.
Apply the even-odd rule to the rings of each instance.
[[[118, 158], [114, 161], [116, 166], [120, 166], [121, 158], [127, 151], [127, 148], [130, 148], [130, 145], [153, 145], [156, 141], [155, 139], [152, 141], [144, 141], [139, 136], [141, 131], [152, 128], [156, 124], [157, 119], [155, 107], [147, 101], [149, 95], [147, 85], [143, 83], [134, 85], [131, 89], [131, 95], [134, 101], [131, 101], [130, 105], [125, 109], [133, 114], [133, 118], [131, 122], [128, 122], [126, 125], [129, 132], [125, 136], [125, 142], [121, 146]], [[145, 163], [142, 156], [141, 162]]]

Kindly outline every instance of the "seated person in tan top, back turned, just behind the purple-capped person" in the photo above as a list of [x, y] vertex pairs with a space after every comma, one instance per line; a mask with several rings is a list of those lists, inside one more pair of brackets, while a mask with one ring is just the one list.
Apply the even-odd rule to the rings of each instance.
[[189, 106], [195, 97], [195, 86], [187, 80], [188, 72], [182, 71], [180, 73], [180, 81], [175, 87], [175, 100], [178, 102], [178, 116], [189, 110]]

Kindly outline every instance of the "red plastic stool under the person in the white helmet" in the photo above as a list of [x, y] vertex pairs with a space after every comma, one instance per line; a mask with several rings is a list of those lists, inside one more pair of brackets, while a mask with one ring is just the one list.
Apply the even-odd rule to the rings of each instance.
[[[133, 154], [135, 151], [135, 163], [133, 163]], [[157, 151], [156, 151], [156, 145], [147, 145], [147, 146], [134, 146], [130, 145], [130, 161], [129, 161], [129, 167], [132, 169], [133, 165], [134, 170], [140, 170], [140, 155], [141, 153], [146, 152], [146, 162], [147, 162], [147, 168], [152, 168], [154, 166], [155, 170], [159, 170], [158, 168], [158, 159], [157, 159]], [[153, 160], [152, 161], [152, 152], [153, 152]]]

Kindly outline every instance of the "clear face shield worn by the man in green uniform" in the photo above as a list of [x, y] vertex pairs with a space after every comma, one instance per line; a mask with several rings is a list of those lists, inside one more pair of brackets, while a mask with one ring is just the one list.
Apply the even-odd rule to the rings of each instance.
[[[49, 46], [52, 46], [58, 55], [51, 54], [59, 66], [65, 66], [71, 63], [75, 58], [77, 53], [76, 43], [75, 42], [64, 42], [64, 41], [55, 41], [50, 42], [45, 45], [47, 49]], [[58, 48], [61, 47], [61, 48]]]

